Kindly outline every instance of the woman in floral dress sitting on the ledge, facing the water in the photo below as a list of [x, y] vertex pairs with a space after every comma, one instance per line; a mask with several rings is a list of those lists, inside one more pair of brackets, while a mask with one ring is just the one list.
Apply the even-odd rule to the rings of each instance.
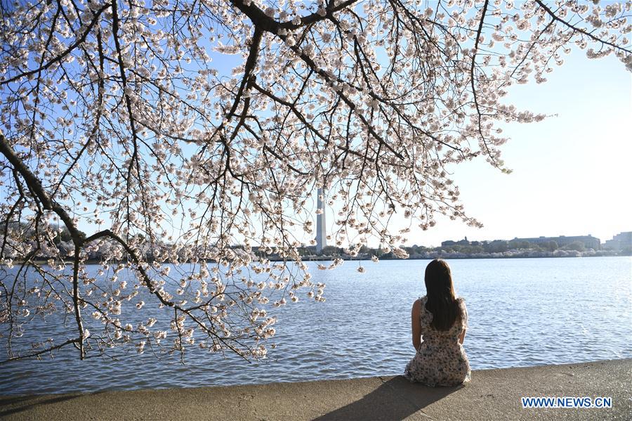
[[404, 377], [431, 387], [468, 382], [470, 363], [462, 346], [468, 312], [463, 299], [454, 296], [450, 267], [443, 260], [431, 261], [425, 281], [427, 294], [412, 308], [417, 353], [406, 365]]

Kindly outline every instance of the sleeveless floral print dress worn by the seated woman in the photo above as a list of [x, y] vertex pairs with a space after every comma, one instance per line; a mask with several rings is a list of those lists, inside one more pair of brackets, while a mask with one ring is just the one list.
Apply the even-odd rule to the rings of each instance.
[[470, 380], [470, 362], [459, 335], [468, 325], [468, 311], [462, 298], [457, 299], [461, 318], [449, 330], [437, 330], [430, 323], [433, 313], [426, 309], [427, 297], [421, 297], [421, 346], [406, 365], [404, 377], [426, 386], [456, 386]]

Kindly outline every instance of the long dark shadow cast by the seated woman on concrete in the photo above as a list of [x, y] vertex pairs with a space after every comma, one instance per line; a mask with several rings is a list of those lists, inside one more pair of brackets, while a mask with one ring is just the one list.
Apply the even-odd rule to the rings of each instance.
[[403, 420], [462, 388], [462, 384], [456, 387], [426, 387], [397, 376], [383, 382], [359, 401], [315, 420]]

